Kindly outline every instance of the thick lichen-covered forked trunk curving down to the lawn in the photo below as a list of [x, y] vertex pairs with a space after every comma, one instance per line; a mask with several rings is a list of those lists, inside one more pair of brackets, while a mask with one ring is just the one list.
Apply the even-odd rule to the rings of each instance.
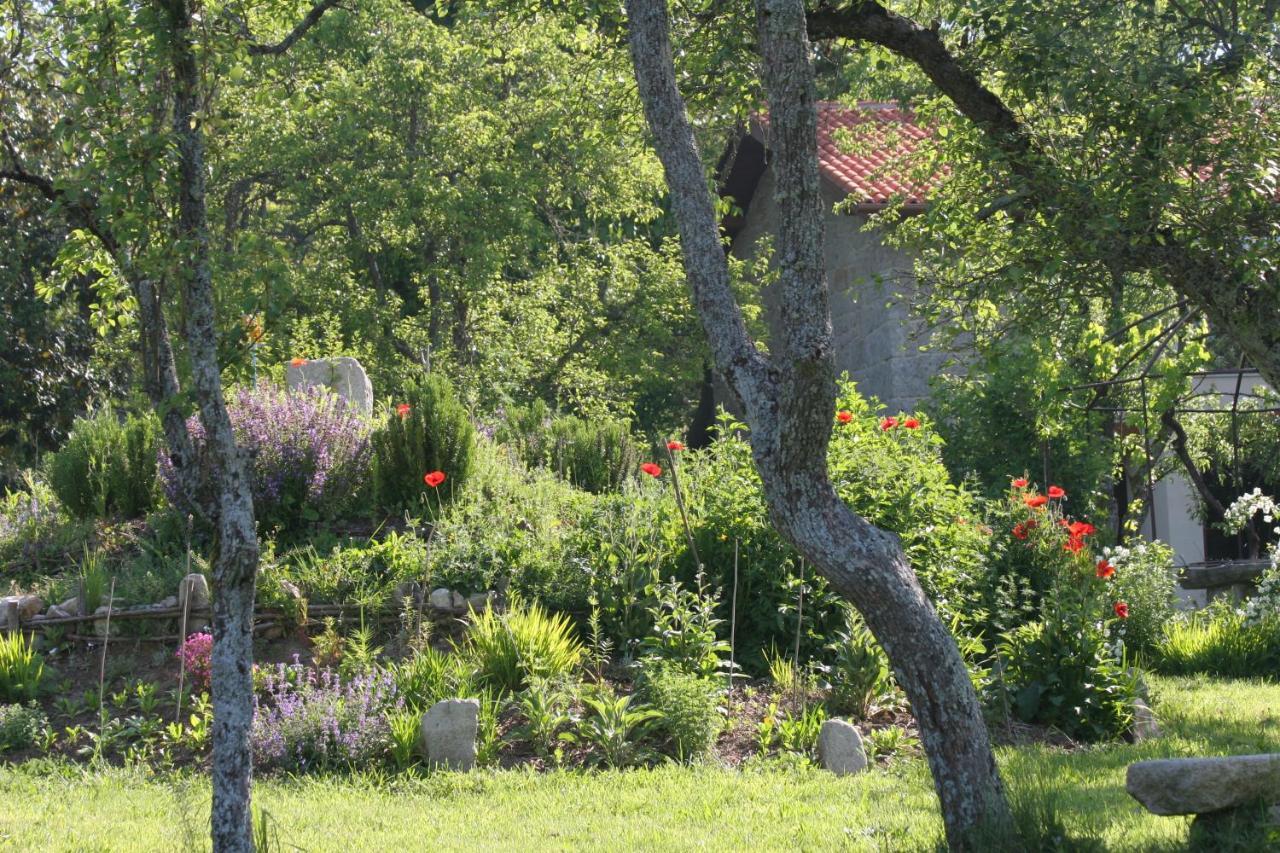
[[952, 848], [1010, 815], [986, 724], [954, 639], [896, 537], [855, 515], [827, 475], [835, 407], [823, 268], [814, 77], [801, 0], [758, 0], [776, 197], [780, 323], [772, 355], [735, 300], [716, 206], [676, 86], [664, 0], [628, 0], [632, 64], [680, 227], [685, 272], [717, 368], [740, 402], [778, 532], [854, 602], [884, 647], [920, 726]]

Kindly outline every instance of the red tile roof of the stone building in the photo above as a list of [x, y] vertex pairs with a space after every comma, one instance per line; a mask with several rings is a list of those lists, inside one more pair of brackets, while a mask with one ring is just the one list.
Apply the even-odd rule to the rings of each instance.
[[[768, 117], [762, 115], [765, 131]], [[818, 104], [818, 169], [823, 178], [863, 207], [891, 200], [923, 206], [932, 182], [913, 183], [910, 155], [929, 131], [895, 104], [859, 101], [856, 108]], [[767, 143], [767, 141], [765, 141]]]

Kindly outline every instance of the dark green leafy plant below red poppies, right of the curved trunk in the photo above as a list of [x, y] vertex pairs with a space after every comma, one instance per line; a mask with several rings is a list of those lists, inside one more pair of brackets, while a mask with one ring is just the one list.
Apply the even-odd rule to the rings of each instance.
[[1087, 742], [1121, 738], [1133, 722], [1137, 675], [1126, 672], [1096, 625], [1020, 625], [1001, 639], [995, 670], [988, 701], [1000, 716]]

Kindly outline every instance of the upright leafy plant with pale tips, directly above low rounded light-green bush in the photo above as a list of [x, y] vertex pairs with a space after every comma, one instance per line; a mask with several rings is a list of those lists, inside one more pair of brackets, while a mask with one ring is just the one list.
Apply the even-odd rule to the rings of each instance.
[[701, 575], [695, 584], [692, 589], [685, 589], [678, 580], [653, 585], [653, 628], [640, 640], [640, 649], [682, 672], [709, 678], [726, 665], [730, 648], [717, 639], [717, 629], [724, 622], [716, 616], [717, 597], [705, 588]]

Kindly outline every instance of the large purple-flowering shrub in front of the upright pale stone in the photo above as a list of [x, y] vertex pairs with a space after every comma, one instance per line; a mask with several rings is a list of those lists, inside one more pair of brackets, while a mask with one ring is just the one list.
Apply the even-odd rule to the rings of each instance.
[[[250, 488], [253, 512], [269, 529], [334, 517], [352, 501], [369, 475], [369, 426], [339, 397], [323, 389], [291, 392], [271, 386], [242, 388], [227, 407], [236, 442], [252, 455]], [[187, 420], [197, 465], [207, 465], [205, 429]], [[169, 455], [160, 453], [160, 474], [170, 500], [178, 478]], [[202, 478], [209, 488], [209, 478]]]

